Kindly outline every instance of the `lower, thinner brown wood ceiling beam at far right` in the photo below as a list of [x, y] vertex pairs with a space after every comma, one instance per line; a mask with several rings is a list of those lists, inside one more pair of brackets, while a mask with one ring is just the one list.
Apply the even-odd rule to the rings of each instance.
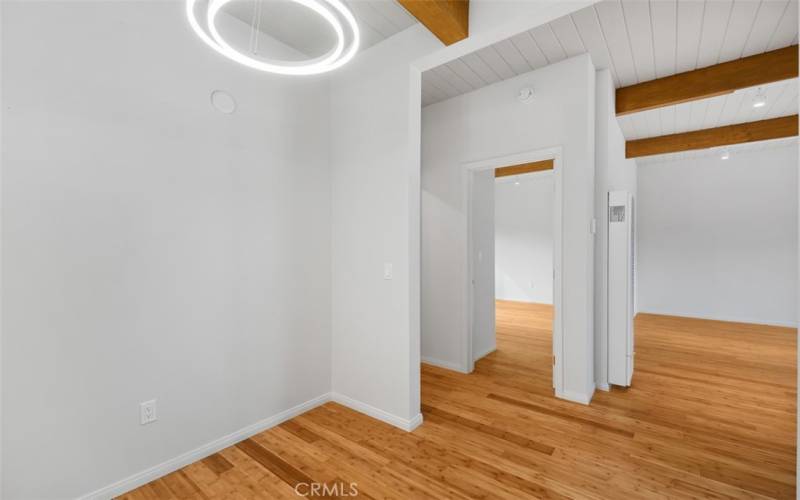
[[797, 115], [783, 116], [770, 120], [627, 141], [625, 143], [625, 156], [627, 158], [638, 158], [640, 156], [707, 149], [796, 135]]

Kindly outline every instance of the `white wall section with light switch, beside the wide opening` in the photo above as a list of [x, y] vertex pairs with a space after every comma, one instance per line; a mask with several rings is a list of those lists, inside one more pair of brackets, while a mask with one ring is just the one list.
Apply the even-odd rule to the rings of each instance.
[[[331, 80], [333, 390], [400, 426], [419, 417], [419, 115], [410, 62], [440, 46], [416, 25]], [[414, 101], [416, 100], [416, 105]], [[384, 279], [384, 264], [393, 279]], [[416, 314], [415, 314], [415, 311]], [[416, 377], [414, 380], [409, 378]]]

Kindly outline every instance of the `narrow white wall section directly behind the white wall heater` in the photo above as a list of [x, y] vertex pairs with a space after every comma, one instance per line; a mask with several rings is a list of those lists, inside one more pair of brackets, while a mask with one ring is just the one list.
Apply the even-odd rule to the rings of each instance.
[[625, 158], [625, 137], [617, 122], [616, 92], [607, 69], [597, 72], [595, 115], [595, 382], [608, 390], [608, 193], [628, 191], [637, 203], [636, 162]]

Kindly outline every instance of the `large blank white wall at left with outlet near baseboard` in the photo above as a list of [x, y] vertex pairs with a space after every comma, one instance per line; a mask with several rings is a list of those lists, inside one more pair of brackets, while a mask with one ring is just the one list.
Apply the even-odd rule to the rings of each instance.
[[182, 2], [3, 9], [4, 498], [74, 498], [330, 391], [325, 82], [222, 59]]

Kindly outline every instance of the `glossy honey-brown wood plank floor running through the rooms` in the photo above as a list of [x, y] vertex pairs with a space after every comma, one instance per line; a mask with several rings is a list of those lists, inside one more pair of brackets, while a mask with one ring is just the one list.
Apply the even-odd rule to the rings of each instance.
[[124, 498], [795, 497], [794, 330], [640, 315], [633, 387], [582, 406], [552, 395], [550, 325], [498, 302], [475, 373], [423, 367], [413, 433], [330, 403]]

